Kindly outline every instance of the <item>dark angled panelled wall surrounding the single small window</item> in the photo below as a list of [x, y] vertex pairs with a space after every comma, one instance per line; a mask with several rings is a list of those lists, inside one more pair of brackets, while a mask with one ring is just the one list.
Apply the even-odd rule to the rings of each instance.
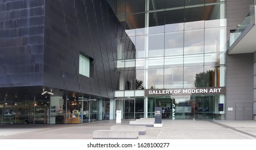
[[[120, 25], [105, 0], [45, 0], [44, 85], [113, 97]], [[79, 54], [94, 59], [93, 77], [79, 74]]]

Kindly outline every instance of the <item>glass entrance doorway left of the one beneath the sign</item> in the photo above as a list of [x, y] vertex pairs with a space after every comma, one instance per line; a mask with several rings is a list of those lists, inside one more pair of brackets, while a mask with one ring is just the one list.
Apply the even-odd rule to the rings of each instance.
[[116, 110], [121, 110], [122, 119], [135, 119], [135, 99], [116, 100]]

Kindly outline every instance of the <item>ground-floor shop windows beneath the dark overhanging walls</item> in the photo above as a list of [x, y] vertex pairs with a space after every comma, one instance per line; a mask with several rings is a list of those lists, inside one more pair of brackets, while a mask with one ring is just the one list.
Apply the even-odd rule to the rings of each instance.
[[110, 101], [60, 96], [0, 99], [0, 124], [74, 124], [110, 119]]

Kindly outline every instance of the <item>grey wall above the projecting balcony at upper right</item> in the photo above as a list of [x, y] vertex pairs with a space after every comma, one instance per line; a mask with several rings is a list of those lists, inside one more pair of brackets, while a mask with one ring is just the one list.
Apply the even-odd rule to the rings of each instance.
[[250, 12], [250, 5], [253, 5], [253, 0], [226, 0], [227, 39], [230, 30], [237, 29]]

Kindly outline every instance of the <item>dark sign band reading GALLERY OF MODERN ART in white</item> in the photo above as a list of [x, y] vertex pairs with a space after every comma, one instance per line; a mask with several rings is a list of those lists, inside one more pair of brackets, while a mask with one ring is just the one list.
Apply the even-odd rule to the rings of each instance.
[[226, 87], [145, 89], [145, 96], [191, 94], [226, 94]]

